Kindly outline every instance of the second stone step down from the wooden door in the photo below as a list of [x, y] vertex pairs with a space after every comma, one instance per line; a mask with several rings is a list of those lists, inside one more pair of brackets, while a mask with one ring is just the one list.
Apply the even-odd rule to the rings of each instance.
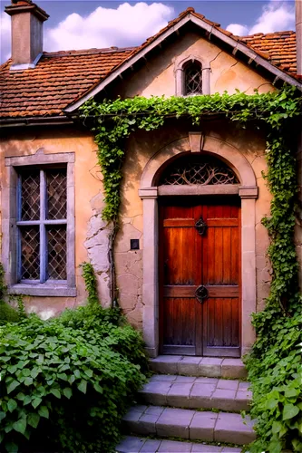
[[140, 401], [191, 409], [248, 410], [248, 382], [157, 374], [141, 389]]

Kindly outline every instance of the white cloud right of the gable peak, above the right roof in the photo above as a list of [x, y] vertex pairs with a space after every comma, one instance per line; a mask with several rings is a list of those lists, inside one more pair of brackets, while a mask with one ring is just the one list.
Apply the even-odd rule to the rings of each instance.
[[263, 6], [262, 14], [258, 17], [256, 24], [249, 29], [246, 25], [229, 24], [227, 30], [239, 36], [295, 30], [295, 6], [287, 2], [270, 0]]

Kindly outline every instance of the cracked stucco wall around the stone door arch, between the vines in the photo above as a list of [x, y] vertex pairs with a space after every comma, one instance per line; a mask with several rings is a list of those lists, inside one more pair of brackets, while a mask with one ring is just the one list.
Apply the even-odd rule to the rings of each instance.
[[[142, 202], [138, 194], [141, 172], [159, 149], [170, 142], [188, 137], [190, 130], [186, 121], [170, 121], [170, 127], [156, 132], [138, 132], [128, 142], [128, 152], [124, 163], [127, 178], [122, 184], [122, 227], [117, 236], [115, 260], [117, 284], [120, 291], [122, 309], [131, 323], [141, 327], [142, 306], [142, 251], [130, 250], [130, 239], [140, 238], [142, 247]], [[222, 132], [221, 132], [222, 131]], [[257, 306], [263, 307], [269, 291], [269, 265], [266, 257], [268, 248], [267, 230], [261, 218], [269, 215], [270, 194], [261, 171], [266, 170], [264, 158], [265, 139], [253, 131], [235, 129], [226, 121], [202, 125], [202, 132], [219, 140], [224, 140], [248, 159], [255, 172], [259, 195], [256, 201], [256, 266], [257, 266]], [[205, 149], [206, 150], [206, 149]]]

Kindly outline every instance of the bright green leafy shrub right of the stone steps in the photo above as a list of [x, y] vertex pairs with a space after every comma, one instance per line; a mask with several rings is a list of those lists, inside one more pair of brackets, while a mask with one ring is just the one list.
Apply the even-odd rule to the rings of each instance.
[[[302, 304], [302, 301], [301, 301]], [[258, 329], [263, 323], [256, 319]], [[302, 314], [274, 320], [271, 341], [258, 337], [248, 358], [248, 379], [252, 383], [251, 416], [258, 419], [258, 440], [250, 453], [279, 453], [283, 449], [302, 451]], [[267, 337], [268, 338], [268, 337]]]

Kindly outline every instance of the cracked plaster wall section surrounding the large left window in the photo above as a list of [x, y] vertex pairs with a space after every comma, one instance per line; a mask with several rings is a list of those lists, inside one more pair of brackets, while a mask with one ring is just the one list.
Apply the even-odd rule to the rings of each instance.
[[[76, 126], [31, 128], [30, 130], [19, 130], [17, 135], [14, 130], [6, 130], [1, 140], [0, 188], [7, 182], [5, 178], [5, 157], [31, 155], [40, 148], [44, 148], [44, 153], [71, 151], [75, 153], [75, 274], [77, 296], [27, 296], [24, 298], [25, 308], [28, 312], [36, 312], [49, 317], [61, 313], [65, 308], [84, 304], [87, 294], [80, 267], [84, 261], [93, 263], [100, 299], [102, 305], [107, 306], [110, 304], [108, 234], [111, 231], [111, 226], [101, 219], [103, 207], [102, 175], [97, 165], [97, 147], [93, 141], [93, 136], [89, 131], [78, 130]], [[1, 206], [5, 203], [5, 200], [0, 199]], [[2, 239], [5, 240], [5, 237], [2, 237]]]

